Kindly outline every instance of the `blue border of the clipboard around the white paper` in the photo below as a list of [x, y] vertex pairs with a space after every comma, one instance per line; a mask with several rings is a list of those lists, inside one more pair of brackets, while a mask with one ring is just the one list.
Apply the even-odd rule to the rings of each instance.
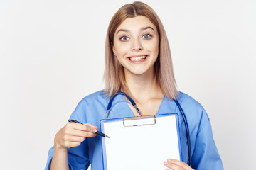
[[[178, 118], [178, 113], [164, 113], [160, 115], [155, 115], [157, 117], [164, 117], [164, 116], [170, 116], [170, 115], [175, 115], [176, 117], [176, 125], [177, 125], [177, 134], [178, 134], [178, 149], [180, 152], [180, 159], [183, 161], [183, 155], [182, 155], [182, 148], [181, 148], [181, 133], [180, 133], [180, 125], [179, 125], [179, 118]], [[133, 117], [131, 117], [133, 118]], [[102, 119], [100, 120], [100, 131], [105, 133], [104, 130], [104, 123], [106, 122], [116, 122], [123, 120], [124, 118], [112, 118], [112, 119]], [[105, 147], [105, 137], [101, 137], [101, 142], [102, 142], [102, 164], [103, 164], [103, 169], [107, 170], [107, 155], [106, 155], [106, 147]], [[166, 158], [167, 159], [167, 158]]]

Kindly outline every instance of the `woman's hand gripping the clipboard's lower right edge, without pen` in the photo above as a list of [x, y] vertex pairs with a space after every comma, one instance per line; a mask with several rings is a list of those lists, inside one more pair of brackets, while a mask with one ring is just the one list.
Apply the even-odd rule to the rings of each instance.
[[167, 161], [164, 162], [164, 165], [173, 170], [194, 170], [185, 162], [181, 162], [176, 159], [167, 159]]

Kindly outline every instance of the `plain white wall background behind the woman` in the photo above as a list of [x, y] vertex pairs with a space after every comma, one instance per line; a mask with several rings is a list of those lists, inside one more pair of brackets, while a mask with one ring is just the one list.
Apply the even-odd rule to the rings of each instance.
[[[107, 26], [131, 2], [0, 0], [1, 169], [44, 168], [80, 99], [103, 89]], [[225, 169], [254, 169], [256, 2], [144, 2], [164, 23], [178, 89], [208, 112]]]

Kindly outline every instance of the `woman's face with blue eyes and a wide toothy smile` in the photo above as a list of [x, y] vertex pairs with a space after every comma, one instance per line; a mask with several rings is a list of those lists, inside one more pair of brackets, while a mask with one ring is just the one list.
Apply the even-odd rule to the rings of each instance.
[[154, 74], [159, 34], [149, 18], [127, 18], [114, 33], [112, 50], [126, 74]]

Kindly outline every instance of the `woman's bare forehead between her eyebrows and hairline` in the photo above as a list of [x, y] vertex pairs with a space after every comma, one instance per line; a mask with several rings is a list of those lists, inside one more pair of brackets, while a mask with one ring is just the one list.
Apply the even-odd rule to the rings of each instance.
[[146, 16], [135, 16], [134, 18], [127, 18], [125, 19], [120, 26], [117, 28], [116, 33], [118, 30], [139, 30], [140, 28], [151, 27], [154, 28], [156, 31], [156, 26], [146, 18]]

